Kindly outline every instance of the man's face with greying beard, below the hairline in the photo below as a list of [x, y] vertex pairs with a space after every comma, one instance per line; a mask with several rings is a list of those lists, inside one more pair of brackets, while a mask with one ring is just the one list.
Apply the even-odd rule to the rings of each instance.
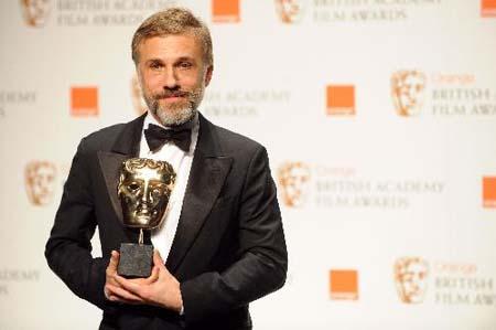
[[193, 34], [145, 39], [138, 47], [138, 76], [150, 113], [164, 126], [192, 119], [212, 77]]

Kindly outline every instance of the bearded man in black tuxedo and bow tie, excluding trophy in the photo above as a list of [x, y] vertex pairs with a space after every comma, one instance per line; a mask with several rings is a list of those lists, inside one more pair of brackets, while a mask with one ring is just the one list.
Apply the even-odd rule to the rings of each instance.
[[[280, 288], [287, 273], [266, 149], [197, 111], [212, 78], [212, 40], [190, 11], [147, 19], [132, 57], [149, 113], [82, 140], [46, 244], [48, 265], [103, 309], [100, 329], [251, 329], [248, 304]], [[158, 146], [157, 126], [188, 132], [190, 145]], [[126, 279], [116, 273], [117, 249], [138, 235], [122, 226], [117, 184], [122, 161], [138, 156], [170, 162], [177, 178], [164, 225], [145, 237], [155, 247], [152, 275]], [[101, 258], [90, 255], [96, 226]]]

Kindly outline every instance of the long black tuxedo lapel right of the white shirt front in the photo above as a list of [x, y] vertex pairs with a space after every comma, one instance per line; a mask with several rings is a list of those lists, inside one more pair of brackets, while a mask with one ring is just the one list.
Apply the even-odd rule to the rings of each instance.
[[231, 166], [223, 156], [215, 127], [200, 115], [200, 135], [184, 194], [183, 207], [166, 266], [174, 272], [193, 244], [216, 201]]

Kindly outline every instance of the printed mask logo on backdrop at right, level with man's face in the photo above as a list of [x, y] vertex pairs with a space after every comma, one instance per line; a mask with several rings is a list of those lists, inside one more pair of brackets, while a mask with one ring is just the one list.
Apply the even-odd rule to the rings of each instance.
[[425, 89], [425, 75], [419, 71], [398, 71], [391, 76], [391, 97], [400, 116], [420, 113]]

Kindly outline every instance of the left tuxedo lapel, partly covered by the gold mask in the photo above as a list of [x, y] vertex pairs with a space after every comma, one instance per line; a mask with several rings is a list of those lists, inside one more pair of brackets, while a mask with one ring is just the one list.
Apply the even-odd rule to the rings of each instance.
[[98, 151], [98, 161], [105, 178], [107, 193], [110, 198], [114, 211], [122, 223], [122, 209], [117, 196], [120, 168], [122, 162], [129, 158], [139, 156], [141, 130], [145, 115], [125, 125], [114, 143], [111, 151]]

